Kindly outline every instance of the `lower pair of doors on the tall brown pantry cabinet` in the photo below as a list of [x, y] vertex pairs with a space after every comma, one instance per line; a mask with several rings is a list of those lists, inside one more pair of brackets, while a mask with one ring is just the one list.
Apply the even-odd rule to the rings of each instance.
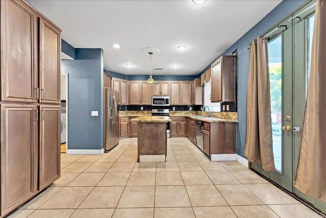
[[1, 104], [1, 216], [60, 178], [60, 106]]

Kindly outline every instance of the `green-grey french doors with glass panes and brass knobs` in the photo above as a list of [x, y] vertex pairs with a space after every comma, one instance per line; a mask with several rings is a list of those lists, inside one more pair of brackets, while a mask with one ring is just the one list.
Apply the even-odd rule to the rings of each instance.
[[326, 202], [312, 199], [293, 187], [310, 75], [315, 3], [311, 1], [293, 13], [268, 36], [273, 151], [277, 171], [264, 171], [258, 163], [251, 163], [251, 168], [325, 212]]

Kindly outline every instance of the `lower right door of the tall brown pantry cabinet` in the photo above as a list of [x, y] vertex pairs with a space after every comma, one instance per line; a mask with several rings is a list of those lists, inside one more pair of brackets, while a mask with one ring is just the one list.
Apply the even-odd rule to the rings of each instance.
[[40, 106], [40, 190], [60, 178], [60, 106]]

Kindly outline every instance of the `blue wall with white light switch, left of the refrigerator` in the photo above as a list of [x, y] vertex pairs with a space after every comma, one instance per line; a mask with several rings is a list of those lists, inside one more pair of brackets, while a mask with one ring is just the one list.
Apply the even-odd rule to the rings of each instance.
[[75, 60], [61, 61], [62, 72], [68, 73], [68, 149], [102, 149], [103, 50], [75, 51]]

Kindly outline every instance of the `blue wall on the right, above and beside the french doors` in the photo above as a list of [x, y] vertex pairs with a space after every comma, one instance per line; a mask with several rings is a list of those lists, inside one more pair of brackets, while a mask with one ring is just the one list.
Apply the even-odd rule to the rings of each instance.
[[[249, 49], [251, 41], [273, 28], [280, 21], [290, 15], [295, 9], [307, 1], [284, 0], [273, 11], [269, 12], [253, 28], [244, 34], [237, 42], [221, 55], [232, 55], [238, 49], [238, 125], [237, 125], [237, 154], [244, 156], [246, 141], [246, 100], [249, 76]], [[221, 56], [220, 55], [220, 56]], [[218, 59], [220, 56], [216, 57]], [[210, 67], [210, 66], [208, 66]], [[207, 69], [207, 68], [206, 68]], [[205, 70], [206, 70], [205, 69]], [[203, 70], [203, 72], [205, 72]]]

